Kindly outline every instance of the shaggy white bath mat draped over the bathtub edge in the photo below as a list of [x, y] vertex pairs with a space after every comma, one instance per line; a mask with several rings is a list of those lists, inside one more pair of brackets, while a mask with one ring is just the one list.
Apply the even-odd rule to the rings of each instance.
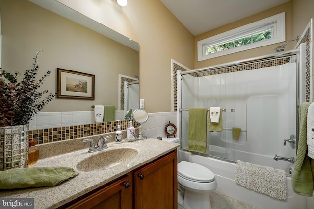
[[286, 174], [281, 169], [238, 160], [235, 167], [235, 183], [278, 200], [287, 198]]

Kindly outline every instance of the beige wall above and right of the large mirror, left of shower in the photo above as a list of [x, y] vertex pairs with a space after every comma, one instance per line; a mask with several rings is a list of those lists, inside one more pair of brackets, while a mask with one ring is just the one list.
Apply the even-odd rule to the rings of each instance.
[[194, 66], [193, 35], [160, 0], [59, 0], [140, 44], [140, 98], [147, 112], [171, 111], [171, 59]]

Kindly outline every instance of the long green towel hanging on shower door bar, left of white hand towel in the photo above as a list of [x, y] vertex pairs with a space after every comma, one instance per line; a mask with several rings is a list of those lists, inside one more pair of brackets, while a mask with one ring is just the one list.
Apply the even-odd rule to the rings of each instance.
[[189, 108], [188, 118], [188, 150], [206, 153], [207, 108]]

